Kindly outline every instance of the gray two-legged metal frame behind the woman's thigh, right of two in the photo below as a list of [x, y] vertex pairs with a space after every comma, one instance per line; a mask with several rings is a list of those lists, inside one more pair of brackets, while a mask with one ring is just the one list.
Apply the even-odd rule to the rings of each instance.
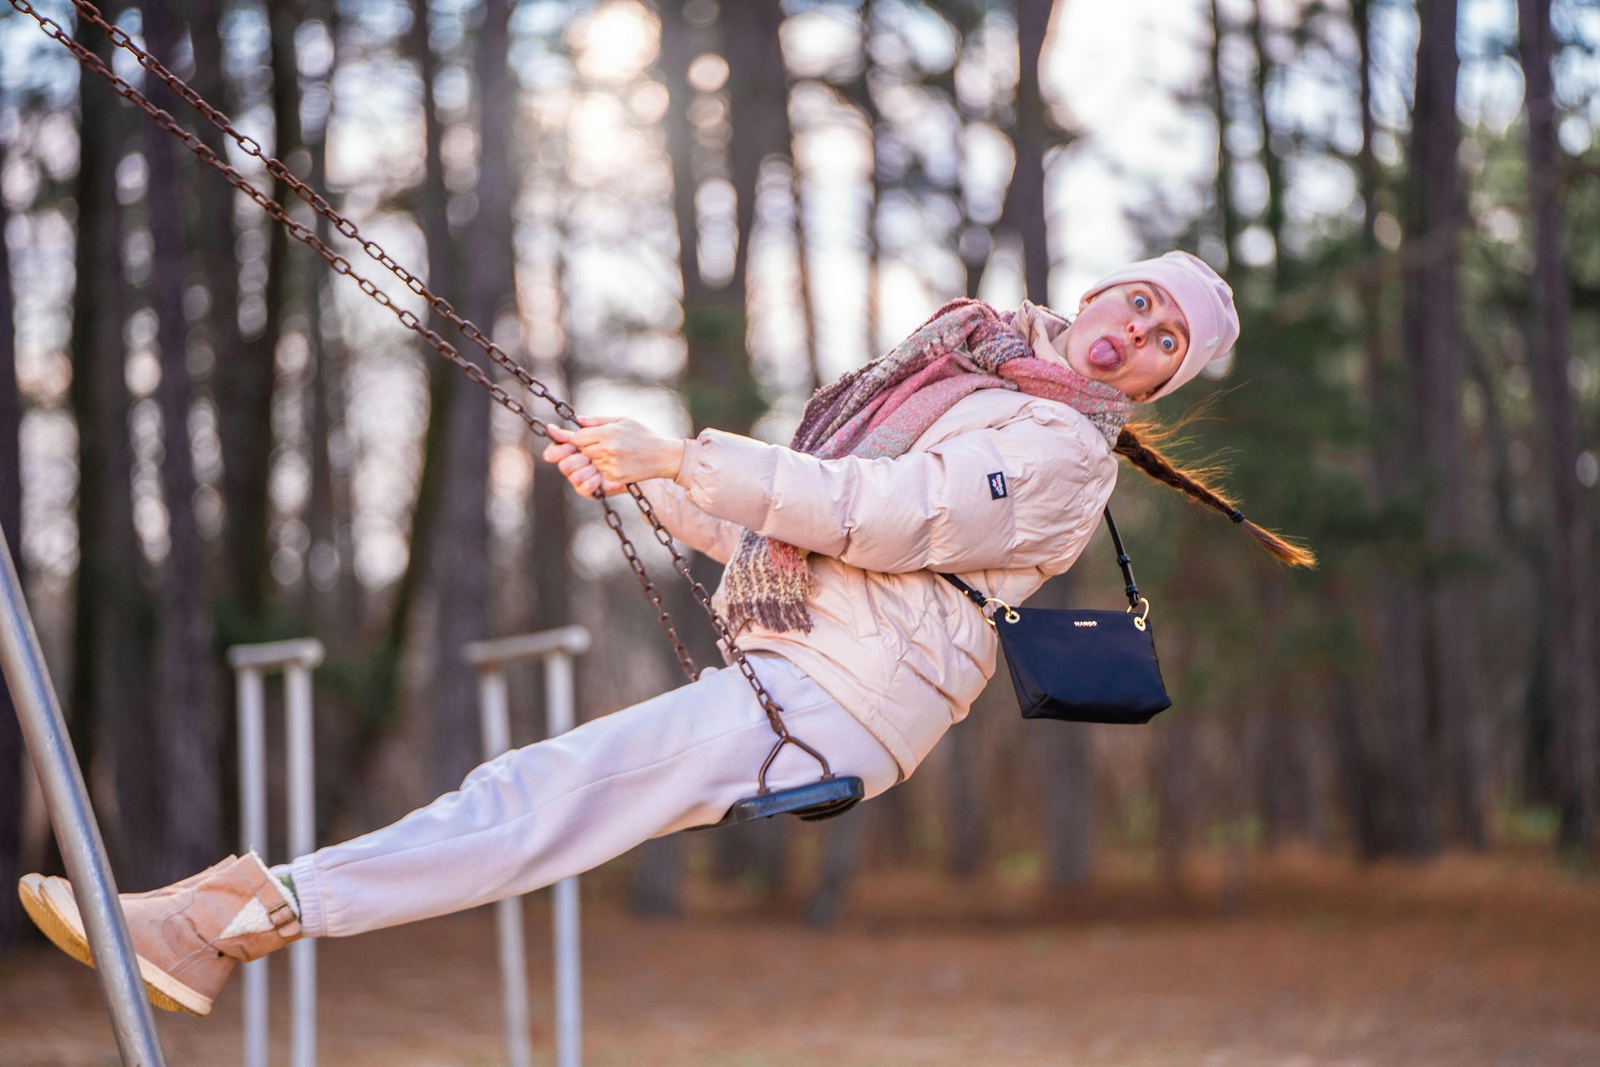
[[[518, 633], [472, 641], [462, 653], [478, 669], [483, 753], [493, 758], [510, 747], [510, 713], [504, 667], [518, 659], [544, 659], [546, 733], [573, 728], [573, 656], [589, 651], [589, 630], [568, 625], [541, 633]], [[582, 1062], [582, 979], [579, 973], [578, 878], [552, 886], [555, 941], [555, 1067]], [[506, 1059], [523, 1067], [533, 1059], [528, 1043], [528, 963], [523, 953], [522, 899], [494, 905], [499, 920], [499, 960], [506, 1005]]]

